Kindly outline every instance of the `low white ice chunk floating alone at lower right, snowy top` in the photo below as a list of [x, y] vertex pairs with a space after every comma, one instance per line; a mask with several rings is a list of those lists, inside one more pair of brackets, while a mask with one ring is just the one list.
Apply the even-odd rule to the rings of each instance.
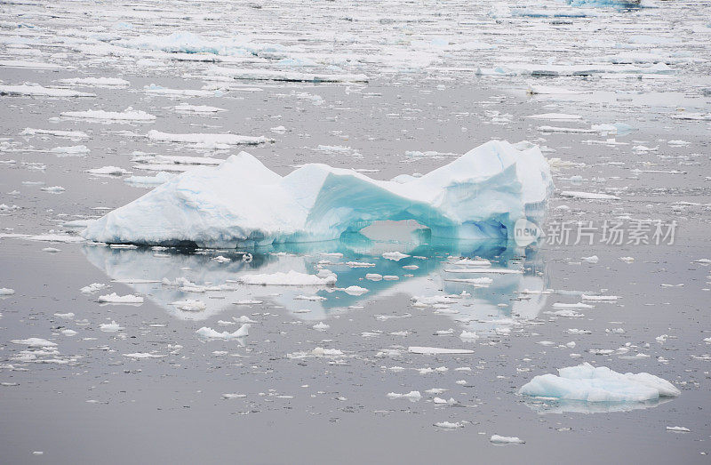
[[534, 377], [519, 394], [585, 402], [644, 402], [681, 394], [669, 381], [649, 373], [617, 373], [588, 363]]

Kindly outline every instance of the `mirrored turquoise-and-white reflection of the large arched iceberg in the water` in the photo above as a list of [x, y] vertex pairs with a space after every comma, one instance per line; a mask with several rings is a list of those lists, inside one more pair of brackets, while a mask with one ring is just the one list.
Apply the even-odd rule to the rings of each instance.
[[[223, 319], [228, 319], [267, 311], [262, 306], [265, 302], [300, 319], [322, 320], [357, 308], [363, 301], [406, 295], [411, 304], [396, 309], [399, 313], [434, 311], [450, 315], [460, 330], [491, 333], [507, 332], [522, 319], [536, 317], [547, 299], [539, 254], [506, 241], [395, 243], [354, 234], [337, 241], [274, 245], [249, 254], [95, 245], [85, 245], [83, 251], [87, 260], [114, 282], [131, 286], [172, 317], [184, 320], [205, 320], [222, 313], [226, 313]], [[470, 273], [472, 267], [467, 263], [478, 268]], [[338, 276], [335, 285], [240, 282], [249, 275], [290, 271], [323, 275], [328, 272], [324, 270]], [[471, 277], [474, 282], [467, 281]], [[429, 305], [419, 301], [433, 296], [444, 302]], [[270, 305], [268, 310], [272, 309]]]

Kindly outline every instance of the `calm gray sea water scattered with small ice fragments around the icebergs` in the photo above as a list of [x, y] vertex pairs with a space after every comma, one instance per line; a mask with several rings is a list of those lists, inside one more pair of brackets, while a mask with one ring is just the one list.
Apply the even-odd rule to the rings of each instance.
[[[6, 2], [0, 21], [0, 93], [36, 83], [95, 94], [0, 97], [0, 288], [14, 290], [0, 297], [3, 463], [708, 462], [706, 4]], [[216, 67], [322, 81], [364, 74], [368, 82], [220, 80]], [[127, 84], [61, 81], [89, 76]], [[156, 95], [151, 84], [207, 94]], [[541, 87], [556, 93], [529, 92], [553, 92]], [[224, 111], [176, 111], [183, 103]], [[156, 119], [60, 116], [127, 107]], [[571, 117], [530, 117], [550, 113]], [[594, 124], [626, 126], [614, 133]], [[154, 129], [276, 141], [201, 148], [152, 142]], [[152, 175], [155, 166], [136, 159], [146, 154], [224, 159], [245, 149], [280, 174], [317, 162], [389, 180], [429, 172], [491, 139], [530, 140], [551, 160], [556, 191], [537, 244], [445, 241], [382, 225], [340, 241], [255, 250], [126, 249], [82, 242], [81, 228], [67, 224], [148, 192], [124, 181], [131, 174], [87, 172]], [[77, 145], [87, 153], [51, 151]], [[63, 190], [42, 190], [54, 186]], [[636, 220], [651, 220], [650, 229], [635, 233]], [[656, 221], [665, 232], [674, 224], [673, 237], [657, 241]], [[588, 236], [578, 237], [579, 222], [592, 228]], [[619, 224], [621, 244], [605, 236], [605, 223]], [[409, 257], [383, 256], [395, 251]], [[491, 273], [485, 286], [454, 282], [446, 269], [459, 258], [520, 273]], [[339, 288], [368, 292], [236, 283], [321, 268], [338, 275]], [[92, 283], [107, 287], [80, 292]], [[219, 290], [204, 289], [211, 286]], [[108, 293], [144, 300], [98, 302]], [[619, 298], [584, 301], [592, 308], [575, 316], [554, 313], [582, 294]], [[460, 298], [418, 305], [444, 295]], [[204, 309], [173, 304], [186, 299]], [[244, 338], [196, 333], [233, 332], [247, 319], [254, 323]], [[101, 329], [111, 322], [121, 329]], [[13, 342], [32, 337], [56, 346]], [[473, 352], [408, 350], [416, 346]], [[598, 404], [517, 394], [536, 375], [582, 362], [651, 373], [681, 395]], [[422, 397], [387, 396], [413, 390]], [[459, 428], [435, 426], [445, 421]], [[667, 430], [676, 426], [689, 432]], [[525, 444], [493, 445], [495, 434]]]

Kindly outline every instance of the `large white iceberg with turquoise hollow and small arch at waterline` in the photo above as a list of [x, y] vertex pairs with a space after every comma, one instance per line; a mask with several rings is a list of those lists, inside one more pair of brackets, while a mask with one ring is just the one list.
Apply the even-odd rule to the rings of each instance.
[[406, 182], [306, 164], [286, 176], [241, 152], [199, 167], [96, 220], [86, 239], [110, 244], [238, 247], [337, 239], [383, 220], [415, 220], [433, 237], [512, 239], [541, 220], [553, 190], [537, 146], [492, 140]]

